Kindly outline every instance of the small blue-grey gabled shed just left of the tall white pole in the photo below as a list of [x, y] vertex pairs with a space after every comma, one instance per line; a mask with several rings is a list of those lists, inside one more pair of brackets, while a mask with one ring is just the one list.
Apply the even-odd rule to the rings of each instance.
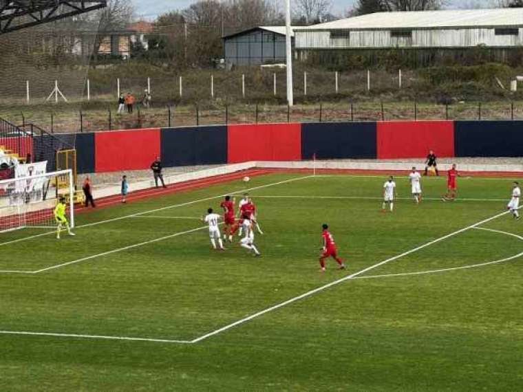
[[224, 36], [228, 65], [259, 65], [285, 62], [285, 27], [259, 26]]

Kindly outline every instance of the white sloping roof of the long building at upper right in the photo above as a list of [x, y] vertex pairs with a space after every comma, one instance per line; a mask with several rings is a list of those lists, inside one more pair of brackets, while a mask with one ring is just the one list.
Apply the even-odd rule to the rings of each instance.
[[340, 19], [295, 30], [395, 29], [395, 28], [478, 28], [523, 26], [523, 8], [495, 10], [442, 10], [414, 12], [376, 12]]

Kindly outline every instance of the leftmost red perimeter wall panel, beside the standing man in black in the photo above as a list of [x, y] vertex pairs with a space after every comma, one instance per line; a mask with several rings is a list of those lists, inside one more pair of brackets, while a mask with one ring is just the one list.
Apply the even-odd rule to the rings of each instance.
[[98, 132], [94, 136], [95, 171], [149, 168], [160, 155], [160, 129]]

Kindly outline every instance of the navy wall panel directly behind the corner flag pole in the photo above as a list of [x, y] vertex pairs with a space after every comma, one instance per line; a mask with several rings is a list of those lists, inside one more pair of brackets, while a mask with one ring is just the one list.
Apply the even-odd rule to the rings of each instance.
[[301, 124], [301, 157], [376, 158], [376, 122]]

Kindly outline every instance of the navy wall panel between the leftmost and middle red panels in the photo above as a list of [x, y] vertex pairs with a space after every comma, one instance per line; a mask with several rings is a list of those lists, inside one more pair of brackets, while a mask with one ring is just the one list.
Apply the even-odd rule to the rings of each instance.
[[186, 166], [227, 163], [227, 127], [163, 128], [162, 164]]

